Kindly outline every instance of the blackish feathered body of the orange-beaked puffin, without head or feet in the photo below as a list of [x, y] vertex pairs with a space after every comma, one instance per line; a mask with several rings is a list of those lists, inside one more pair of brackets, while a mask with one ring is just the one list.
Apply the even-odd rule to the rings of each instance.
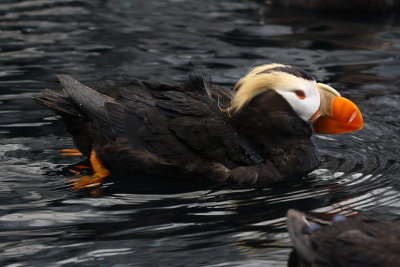
[[313, 130], [274, 90], [231, 116], [233, 92], [192, 75], [182, 84], [137, 79], [63, 90], [35, 100], [61, 115], [77, 148], [111, 172], [268, 184], [315, 169]]

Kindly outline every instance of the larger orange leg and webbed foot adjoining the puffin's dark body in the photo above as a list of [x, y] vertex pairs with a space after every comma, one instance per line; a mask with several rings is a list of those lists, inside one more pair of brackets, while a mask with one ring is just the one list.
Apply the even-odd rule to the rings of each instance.
[[103, 183], [104, 179], [111, 174], [110, 171], [104, 167], [103, 163], [101, 163], [94, 149], [90, 153], [90, 163], [92, 164], [94, 174], [72, 179], [73, 189], [80, 190], [100, 185]]

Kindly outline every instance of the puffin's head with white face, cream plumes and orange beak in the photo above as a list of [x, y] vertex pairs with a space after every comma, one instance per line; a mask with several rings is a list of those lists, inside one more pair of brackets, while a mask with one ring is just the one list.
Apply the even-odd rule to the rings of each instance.
[[239, 112], [255, 96], [274, 90], [301, 119], [312, 123], [317, 133], [346, 133], [363, 128], [361, 112], [353, 102], [332, 87], [317, 83], [297, 67], [281, 64], [255, 67], [236, 83], [234, 90], [227, 108], [230, 114]]

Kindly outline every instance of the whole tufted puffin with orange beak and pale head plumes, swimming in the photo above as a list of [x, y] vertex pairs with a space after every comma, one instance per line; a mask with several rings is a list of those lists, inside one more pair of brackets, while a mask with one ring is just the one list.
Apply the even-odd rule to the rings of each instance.
[[318, 166], [311, 140], [363, 126], [358, 108], [299, 68], [254, 68], [235, 91], [191, 76], [183, 84], [140, 80], [87, 87], [59, 75], [63, 91], [44, 90], [35, 100], [63, 118], [95, 174], [267, 184], [304, 175]]

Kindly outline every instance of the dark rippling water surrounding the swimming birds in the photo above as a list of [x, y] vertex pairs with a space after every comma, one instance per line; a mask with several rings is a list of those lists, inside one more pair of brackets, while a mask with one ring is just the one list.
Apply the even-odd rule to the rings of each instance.
[[[288, 208], [399, 221], [399, 29], [395, 16], [238, 0], [1, 1], [0, 265], [285, 266]], [[274, 188], [143, 191], [110, 179], [71, 191], [68, 168], [81, 158], [60, 156], [71, 139], [31, 101], [57, 73], [177, 81], [200, 71], [230, 86], [270, 62], [307, 69], [365, 119], [360, 132], [317, 136], [321, 167]]]

